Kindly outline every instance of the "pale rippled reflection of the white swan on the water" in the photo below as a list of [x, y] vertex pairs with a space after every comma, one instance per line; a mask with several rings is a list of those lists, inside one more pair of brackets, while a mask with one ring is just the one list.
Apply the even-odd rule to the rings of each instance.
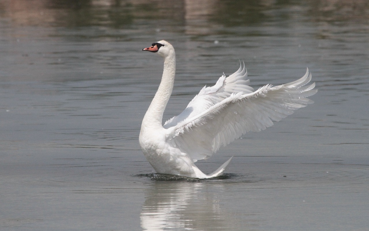
[[155, 182], [142, 207], [141, 227], [150, 231], [224, 227], [220, 200], [207, 189], [203, 182]]

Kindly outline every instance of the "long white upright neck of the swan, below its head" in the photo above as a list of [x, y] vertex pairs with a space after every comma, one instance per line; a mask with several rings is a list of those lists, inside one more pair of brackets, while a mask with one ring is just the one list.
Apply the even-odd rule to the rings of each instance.
[[141, 129], [145, 127], [162, 128], [163, 113], [172, 94], [174, 77], [176, 73], [176, 55], [172, 54], [164, 58], [164, 70], [162, 80], [154, 99], [152, 99], [149, 109], [142, 120]]

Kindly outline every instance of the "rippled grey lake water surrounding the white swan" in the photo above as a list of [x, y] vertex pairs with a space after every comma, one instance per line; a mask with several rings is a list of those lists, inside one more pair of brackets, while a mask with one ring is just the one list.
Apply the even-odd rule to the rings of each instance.
[[[1, 230], [367, 230], [365, 1], [0, 1]], [[165, 119], [243, 60], [252, 86], [308, 67], [314, 104], [197, 166], [152, 180], [138, 145], [166, 39]]]

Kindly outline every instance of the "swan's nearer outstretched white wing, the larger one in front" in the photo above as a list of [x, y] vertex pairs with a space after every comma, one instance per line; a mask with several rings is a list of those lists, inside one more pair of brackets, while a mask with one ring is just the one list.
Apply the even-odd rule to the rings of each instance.
[[[203, 111], [193, 109], [182, 120], [177, 119], [178, 116], [166, 124], [168, 142], [190, 155], [194, 161], [206, 159], [242, 134], [264, 130], [272, 126], [273, 121], [280, 121], [294, 110], [314, 103], [306, 98], [317, 92], [313, 90], [315, 83], [305, 86], [310, 80], [311, 74], [307, 69], [306, 74], [294, 82], [275, 87], [266, 85], [251, 93], [233, 92]], [[245, 86], [241, 88], [250, 89]], [[215, 94], [220, 94], [218, 92], [220, 90]], [[211, 96], [204, 94], [206, 99]], [[196, 103], [196, 97], [193, 101], [186, 110]]]

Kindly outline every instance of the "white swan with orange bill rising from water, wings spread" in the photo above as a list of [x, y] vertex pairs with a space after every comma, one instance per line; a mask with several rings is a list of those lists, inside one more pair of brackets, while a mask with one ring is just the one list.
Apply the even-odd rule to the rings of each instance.
[[261, 131], [280, 121], [307, 104], [306, 97], [314, 95], [315, 83], [311, 73], [296, 81], [280, 85], [265, 85], [258, 90], [249, 86], [245, 64], [232, 75], [223, 75], [214, 86], [203, 87], [186, 109], [162, 125], [162, 118], [172, 94], [176, 71], [173, 46], [161, 40], [142, 49], [164, 58], [161, 83], [144, 115], [139, 144], [147, 159], [158, 173], [195, 178], [210, 178], [223, 174], [228, 159], [209, 175], [194, 164], [207, 159], [221, 146], [225, 146], [249, 131]]

